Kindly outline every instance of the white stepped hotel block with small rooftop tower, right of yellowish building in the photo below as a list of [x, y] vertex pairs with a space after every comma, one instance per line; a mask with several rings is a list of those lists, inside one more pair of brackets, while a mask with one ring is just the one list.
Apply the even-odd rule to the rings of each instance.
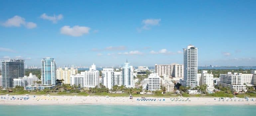
[[80, 87], [96, 87], [99, 86], [99, 71], [93, 64], [89, 71], [81, 72], [81, 74], [71, 75], [70, 84]]

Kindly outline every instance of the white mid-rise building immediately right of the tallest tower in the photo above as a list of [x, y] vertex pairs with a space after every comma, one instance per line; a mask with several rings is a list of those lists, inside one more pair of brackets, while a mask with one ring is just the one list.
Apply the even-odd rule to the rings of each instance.
[[215, 88], [213, 86], [213, 75], [207, 73], [207, 71], [201, 71], [201, 78], [199, 81], [199, 85], [207, 85], [207, 91], [213, 91]]

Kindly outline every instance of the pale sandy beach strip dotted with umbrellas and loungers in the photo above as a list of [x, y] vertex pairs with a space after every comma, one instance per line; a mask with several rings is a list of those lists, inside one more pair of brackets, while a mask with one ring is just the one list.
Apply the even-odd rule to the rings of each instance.
[[[24, 98], [25, 97], [25, 98]], [[29, 97], [29, 98], [28, 98]], [[19, 98], [19, 99], [18, 99]], [[26, 99], [26, 100], [24, 100]], [[10, 95], [0, 96], [0, 105], [81, 105], [81, 104], [116, 104], [116, 105], [256, 105], [256, 98], [218, 97], [183, 97], [183, 98], [146, 98], [105, 97], [105, 96], [47, 96], [47, 95]], [[161, 99], [161, 101], [160, 101]], [[232, 100], [231, 100], [232, 99]], [[253, 99], [253, 101], [252, 101]]]

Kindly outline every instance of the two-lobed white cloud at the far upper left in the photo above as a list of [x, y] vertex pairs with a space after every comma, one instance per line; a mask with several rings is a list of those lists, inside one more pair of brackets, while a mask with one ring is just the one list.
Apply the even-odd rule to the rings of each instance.
[[26, 22], [24, 18], [20, 16], [14, 16], [11, 19], [8, 19], [5, 21], [5, 23], [2, 24], [5, 27], [21, 27], [24, 26], [28, 29], [33, 29], [37, 27], [37, 24], [33, 22]]

